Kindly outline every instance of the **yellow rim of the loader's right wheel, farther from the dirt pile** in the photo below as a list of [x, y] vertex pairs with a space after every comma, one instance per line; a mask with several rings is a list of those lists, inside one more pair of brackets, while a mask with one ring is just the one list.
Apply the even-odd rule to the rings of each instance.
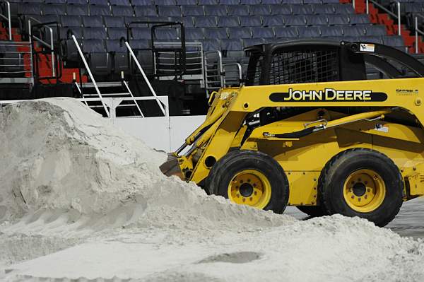
[[386, 185], [374, 170], [356, 170], [346, 179], [343, 196], [354, 211], [370, 213], [382, 205], [386, 196]]

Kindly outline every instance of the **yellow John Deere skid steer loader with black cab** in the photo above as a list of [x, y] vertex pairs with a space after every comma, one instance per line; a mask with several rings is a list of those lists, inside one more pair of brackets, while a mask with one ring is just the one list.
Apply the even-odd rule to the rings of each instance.
[[[424, 195], [424, 65], [368, 42], [299, 40], [245, 51], [245, 86], [212, 93], [165, 175], [276, 213], [384, 226]], [[367, 80], [366, 65], [384, 74]]]

